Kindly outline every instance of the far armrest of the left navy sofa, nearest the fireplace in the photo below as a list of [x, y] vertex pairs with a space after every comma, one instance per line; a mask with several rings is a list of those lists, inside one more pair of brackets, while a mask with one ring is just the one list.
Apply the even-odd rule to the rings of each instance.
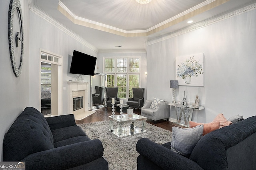
[[54, 117], [46, 117], [46, 121], [50, 126], [51, 131], [55, 129], [60, 129], [62, 127], [74, 126], [76, 125], [75, 117], [73, 114], [60, 115]]

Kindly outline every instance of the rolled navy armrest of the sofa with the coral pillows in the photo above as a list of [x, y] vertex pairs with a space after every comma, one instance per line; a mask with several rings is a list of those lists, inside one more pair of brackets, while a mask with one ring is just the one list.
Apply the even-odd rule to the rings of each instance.
[[[136, 144], [136, 149], [141, 156], [164, 170], [202, 170], [196, 162], [178, 153], [172, 152], [166, 147], [154, 143], [147, 138], [140, 139]], [[138, 162], [138, 164], [139, 163], [140, 162]]]

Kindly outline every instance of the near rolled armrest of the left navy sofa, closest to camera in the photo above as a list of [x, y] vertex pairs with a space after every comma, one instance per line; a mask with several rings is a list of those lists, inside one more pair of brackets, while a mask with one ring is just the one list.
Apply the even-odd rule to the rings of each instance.
[[66, 145], [26, 156], [26, 169], [68, 169], [92, 162], [103, 156], [103, 146], [100, 140], [94, 139]]

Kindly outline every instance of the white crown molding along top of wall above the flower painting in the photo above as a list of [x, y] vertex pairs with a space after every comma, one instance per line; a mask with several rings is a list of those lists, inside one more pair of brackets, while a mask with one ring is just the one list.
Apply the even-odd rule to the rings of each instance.
[[230, 12], [228, 14], [219, 16], [217, 18], [213, 17], [214, 19], [206, 20], [204, 22], [200, 22], [199, 24], [194, 24], [194, 25], [191, 25], [189, 27], [185, 27], [184, 29], [181, 29], [179, 31], [175, 31], [175, 32], [171, 33], [170, 35], [166, 35], [164, 37], [160, 37], [160, 38], [157, 38], [157, 39], [147, 41], [147, 42], [145, 42], [145, 45], [148, 46], [148, 45], [152, 45], [152, 44], [155, 44], [155, 43], [159, 43], [161, 41], [171, 39], [171, 38], [176, 37], [178, 35], [182, 35], [182, 34], [194, 31], [196, 29], [200, 29], [202, 27], [206, 27], [208, 25], [212, 25], [214, 23], [217, 23], [217, 22], [220, 22], [220, 21], [223, 21], [223, 20], [233, 18], [234, 16], [238, 16], [240, 14], [244, 14], [246, 12], [249, 12], [249, 11], [252, 11], [252, 10], [255, 10], [255, 9], [256, 9], [256, 3], [254, 3], [252, 5], [249, 5], [249, 6], [246, 6], [244, 8], [241, 8], [239, 10]]

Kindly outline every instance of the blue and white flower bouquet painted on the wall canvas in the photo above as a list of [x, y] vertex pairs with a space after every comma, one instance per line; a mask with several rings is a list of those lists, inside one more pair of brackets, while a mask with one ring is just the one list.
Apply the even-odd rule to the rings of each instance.
[[196, 61], [193, 56], [188, 60], [186, 59], [185, 63], [178, 64], [177, 76], [181, 77], [182, 79], [184, 79], [186, 76], [190, 76], [190, 78], [192, 76], [198, 77], [198, 74], [204, 73], [202, 70], [202, 63], [198, 63], [198, 61]]

